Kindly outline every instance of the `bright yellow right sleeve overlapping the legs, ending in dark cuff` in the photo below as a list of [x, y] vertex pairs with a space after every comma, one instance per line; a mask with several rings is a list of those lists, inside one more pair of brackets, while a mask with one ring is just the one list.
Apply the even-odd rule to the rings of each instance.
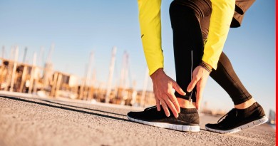
[[216, 69], [235, 12], [235, 0], [210, 1], [212, 2], [212, 15], [202, 61]]

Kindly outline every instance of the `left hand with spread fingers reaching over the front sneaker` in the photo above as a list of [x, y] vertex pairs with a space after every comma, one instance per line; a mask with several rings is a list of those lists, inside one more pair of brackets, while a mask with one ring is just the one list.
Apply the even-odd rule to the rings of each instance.
[[185, 92], [180, 88], [179, 85], [165, 74], [163, 68], [159, 68], [155, 73], [150, 75], [150, 78], [153, 80], [153, 91], [155, 93], [155, 101], [158, 111], [160, 111], [160, 103], [163, 107], [166, 116], [170, 116], [170, 110], [172, 111], [175, 118], [178, 117], [180, 113], [180, 105], [177, 103], [177, 98], [173, 93], [173, 88], [180, 95], [185, 95]]

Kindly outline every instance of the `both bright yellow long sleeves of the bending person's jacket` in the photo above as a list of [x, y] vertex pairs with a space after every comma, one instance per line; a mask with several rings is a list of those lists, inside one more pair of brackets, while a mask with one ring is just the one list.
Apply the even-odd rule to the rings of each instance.
[[[235, 12], [235, 0], [211, 2], [212, 15], [202, 61], [216, 69]], [[141, 39], [150, 75], [163, 68], [160, 6], [161, 0], [138, 0]]]

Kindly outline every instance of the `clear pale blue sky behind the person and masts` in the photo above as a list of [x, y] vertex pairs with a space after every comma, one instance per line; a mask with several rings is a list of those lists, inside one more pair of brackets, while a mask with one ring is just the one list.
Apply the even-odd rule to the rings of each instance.
[[[161, 6], [165, 71], [175, 79], [173, 34], [168, 9], [171, 0]], [[117, 47], [114, 85], [119, 83], [123, 52], [127, 51], [130, 75], [136, 88], [143, 88], [145, 57], [140, 41], [138, 4], [133, 0], [0, 0], [0, 46], [5, 58], [11, 47], [19, 46], [19, 61], [28, 47], [27, 61], [44, 48], [46, 60], [55, 43], [52, 62], [56, 71], [83, 76], [90, 53], [97, 85], [107, 83], [111, 49]], [[257, 0], [244, 16], [242, 27], [230, 29], [224, 52], [253, 97], [265, 108], [275, 110], [275, 1]], [[1, 51], [2, 56], [2, 51]], [[149, 80], [148, 88], [152, 85]], [[203, 101], [211, 108], [230, 110], [232, 100], [211, 78]]]

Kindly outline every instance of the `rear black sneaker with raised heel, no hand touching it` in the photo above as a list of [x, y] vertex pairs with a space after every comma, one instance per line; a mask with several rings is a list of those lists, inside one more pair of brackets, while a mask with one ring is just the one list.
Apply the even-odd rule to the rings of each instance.
[[[224, 117], [225, 119], [219, 122]], [[243, 110], [233, 108], [222, 118], [218, 120], [217, 124], [206, 124], [205, 128], [209, 131], [222, 134], [234, 133], [249, 127], [261, 125], [268, 120], [259, 103], [254, 103], [249, 108]]]

